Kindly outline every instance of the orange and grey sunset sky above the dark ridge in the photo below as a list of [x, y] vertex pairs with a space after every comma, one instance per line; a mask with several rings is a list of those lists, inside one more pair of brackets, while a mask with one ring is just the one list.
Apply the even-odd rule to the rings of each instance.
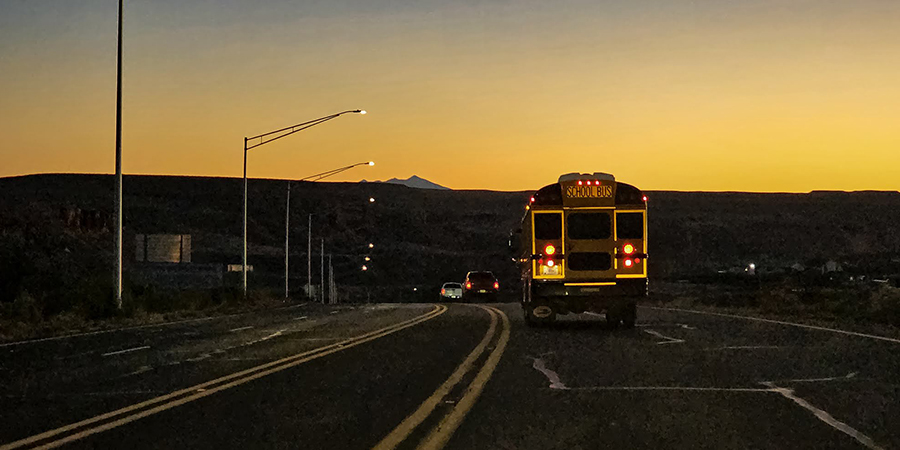
[[[125, 173], [900, 189], [896, 0], [125, 0]], [[0, 1], [0, 176], [111, 173], [116, 0]]]

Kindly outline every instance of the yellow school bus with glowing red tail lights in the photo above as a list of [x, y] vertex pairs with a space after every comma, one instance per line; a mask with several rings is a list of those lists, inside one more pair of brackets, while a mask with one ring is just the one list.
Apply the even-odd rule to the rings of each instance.
[[605, 312], [633, 327], [647, 295], [647, 197], [607, 173], [570, 173], [544, 186], [510, 236], [529, 325]]

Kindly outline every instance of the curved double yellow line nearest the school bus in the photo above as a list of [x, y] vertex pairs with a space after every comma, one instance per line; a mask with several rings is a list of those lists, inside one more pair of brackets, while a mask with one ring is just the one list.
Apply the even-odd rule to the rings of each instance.
[[491, 325], [488, 328], [487, 333], [485, 333], [484, 338], [481, 339], [481, 342], [475, 346], [472, 352], [469, 353], [469, 356], [467, 356], [450, 375], [450, 378], [447, 378], [447, 381], [441, 384], [441, 386], [438, 387], [418, 409], [404, 419], [403, 422], [382, 439], [381, 442], [375, 445], [374, 450], [392, 450], [396, 448], [406, 441], [413, 431], [434, 413], [438, 405], [441, 404], [441, 401], [450, 394], [453, 388], [462, 381], [465, 375], [474, 370], [475, 363], [481, 359], [481, 356], [488, 349], [488, 346], [497, 334], [499, 317], [502, 320], [502, 331], [499, 339], [495, 342], [493, 350], [484, 360], [481, 369], [478, 370], [478, 373], [465, 388], [459, 401], [456, 402], [451, 410], [447, 411], [445, 415], [440, 418], [437, 425], [435, 425], [428, 435], [419, 442], [417, 448], [423, 450], [437, 450], [443, 448], [453, 436], [456, 429], [462, 424], [466, 414], [468, 414], [469, 410], [475, 405], [475, 401], [478, 400], [478, 396], [481, 395], [481, 391], [484, 390], [484, 386], [494, 373], [494, 369], [497, 367], [497, 364], [500, 362], [500, 357], [506, 349], [506, 344], [509, 342], [510, 325], [509, 318], [506, 317], [506, 314], [494, 307], [475, 306], [487, 311], [491, 316]]

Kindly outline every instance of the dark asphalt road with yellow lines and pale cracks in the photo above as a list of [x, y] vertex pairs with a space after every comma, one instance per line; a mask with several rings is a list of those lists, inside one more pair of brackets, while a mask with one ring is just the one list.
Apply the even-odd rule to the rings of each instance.
[[0, 347], [0, 449], [900, 448], [900, 340], [298, 305]]

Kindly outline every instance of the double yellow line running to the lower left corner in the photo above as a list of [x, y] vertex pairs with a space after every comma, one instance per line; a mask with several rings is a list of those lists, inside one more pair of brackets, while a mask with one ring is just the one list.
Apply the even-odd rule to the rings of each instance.
[[270, 363], [236, 372], [231, 375], [216, 378], [215, 380], [181, 389], [141, 403], [127, 406], [122, 409], [108, 412], [106, 414], [101, 414], [90, 419], [85, 419], [80, 422], [65, 425], [25, 439], [10, 442], [8, 444], [0, 446], [0, 450], [12, 450], [30, 446], [34, 446], [32, 448], [41, 449], [59, 447], [63, 444], [83, 439], [92, 434], [101, 433], [103, 431], [107, 431], [125, 425], [127, 423], [134, 422], [135, 420], [151, 416], [158, 412], [162, 412], [167, 409], [171, 409], [176, 406], [198, 400], [208, 395], [215, 394], [216, 392], [223, 391], [225, 389], [229, 389], [234, 386], [247, 383], [249, 381], [253, 381], [257, 378], [262, 378], [266, 375], [289, 369], [299, 364], [303, 364], [307, 361], [312, 361], [314, 359], [321, 358], [323, 356], [330, 355], [341, 350], [346, 350], [348, 348], [373, 341], [392, 333], [396, 333], [405, 328], [409, 328], [411, 326], [425, 322], [426, 320], [431, 320], [446, 311], [446, 306], [435, 305], [431, 311], [412, 319], [398, 322], [388, 327], [371, 331], [359, 336], [351, 337], [331, 345], [319, 347], [293, 356], [288, 356], [277, 361], [272, 361]]

